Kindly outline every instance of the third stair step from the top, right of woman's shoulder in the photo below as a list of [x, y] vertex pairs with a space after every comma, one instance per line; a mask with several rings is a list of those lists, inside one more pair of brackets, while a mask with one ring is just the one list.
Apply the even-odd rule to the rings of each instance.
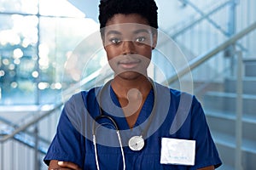
[[[207, 92], [204, 95], [203, 107], [210, 111], [236, 113], [236, 97], [234, 93]], [[242, 94], [243, 115], [255, 116], [256, 95]]]

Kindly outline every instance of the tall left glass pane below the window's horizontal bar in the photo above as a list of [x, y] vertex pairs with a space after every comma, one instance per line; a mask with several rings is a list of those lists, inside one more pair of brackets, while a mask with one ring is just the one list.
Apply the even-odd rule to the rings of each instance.
[[38, 18], [0, 15], [0, 105], [34, 104]]

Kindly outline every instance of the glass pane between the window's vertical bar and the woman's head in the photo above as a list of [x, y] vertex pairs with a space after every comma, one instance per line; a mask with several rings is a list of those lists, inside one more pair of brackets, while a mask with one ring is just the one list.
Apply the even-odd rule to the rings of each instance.
[[[61, 90], [71, 87], [72, 83], [76, 82], [76, 79], [63, 75], [64, 65], [79, 42], [98, 27], [94, 20], [86, 18], [40, 18], [38, 62], [40, 75], [38, 88], [42, 94], [40, 103], [61, 101]], [[96, 68], [99, 66], [92, 65], [91, 69]]]

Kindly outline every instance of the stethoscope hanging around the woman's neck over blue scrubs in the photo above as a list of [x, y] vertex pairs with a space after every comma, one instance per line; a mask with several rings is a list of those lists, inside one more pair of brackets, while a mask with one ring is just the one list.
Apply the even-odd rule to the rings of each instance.
[[[154, 82], [151, 79], [149, 79], [149, 81], [151, 82], [151, 84], [153, 86], [153, 89], [154, 89], [154, 106], [153, 106], [152, 114], [149, 116], [148, 124], [145, 127], [145, 130], [141, 133], [141, 135], [132, 136], [131, 139], [129, 139], [129, 141], [128, 141], [129, 148], [131, 150], [135, 150], [135, 151], [139, 151], [139, 150], [143, 149], [144, 144], [145, 144], [145, 141], [144, 141], [143, 137], [145, 136], [145, 133], [148, 132], [148, 128], [150, 126], [150, 123], [151, 123], [151, 121], [153, 119], [154, 112], [155, 112], [154, 110], [155, 110], [155, 103], [156, 103], [156, 99], [155, 99], [156, 98], [156, 95], [155, 95], [155, 90], [156, 89], [155, 89]], [[107, 82], [106, 85], [104, 85], [102, 87], [102, 90], [103, 90], [103, 88], [105, 88], [107, 86], [110, 86], [110, 82]], [[102, 90], [99, 92], [99, 96], [101, 96]], [[98, 102], [100, 103], [100, 99], [98, 99]], [[97, 147], [96, 147], [96, 129], [97, 129], [97, 127], [101, 126], [101, 124], [99, 124], [96, 127], [96, 122], [99, 121], [102, 118], [108, 119], [108, 121], [113, 123], [113, 127], [114, 127], [114, 129], [115, 129], [115, 131], [117, 133], [118, 139], [119, 139], [119, 146], [120, 146], [120, 150], [121, 150], [121, 154], [122, 154], [122, 159], [123, 159], [123, 165], [124, 165], [123, 169], [125, 170], [125, 154], [124, 154], [124, 150], [123, 150], [122, 139], [121, 139], [120, 133], [119, 133], [119, 127], [118, 127], [117, 123], [113, 120], [113, 118], [111, 116], [103, 115], [102, 114], [102, 107], [101, 107], [101, 105], [99, 105], [99, 107], [100, 107], [100, 115], [96, 116], [95, 121], [92, 122], [92, 137], [93, 137], [93, 145], [94, 145], [94, 151], [95, 151], [95, 159], [96, 159], [97, 170], [100, 170], [100, 166], [99, 166], [99, 161], [98, 161], [98, 156], [97, 156]]]

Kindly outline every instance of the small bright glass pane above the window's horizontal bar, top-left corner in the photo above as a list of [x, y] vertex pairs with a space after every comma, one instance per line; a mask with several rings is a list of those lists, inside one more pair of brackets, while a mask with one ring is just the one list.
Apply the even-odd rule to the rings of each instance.
[[37, 14], [38, 0], [1, 0], [0, 12]]

